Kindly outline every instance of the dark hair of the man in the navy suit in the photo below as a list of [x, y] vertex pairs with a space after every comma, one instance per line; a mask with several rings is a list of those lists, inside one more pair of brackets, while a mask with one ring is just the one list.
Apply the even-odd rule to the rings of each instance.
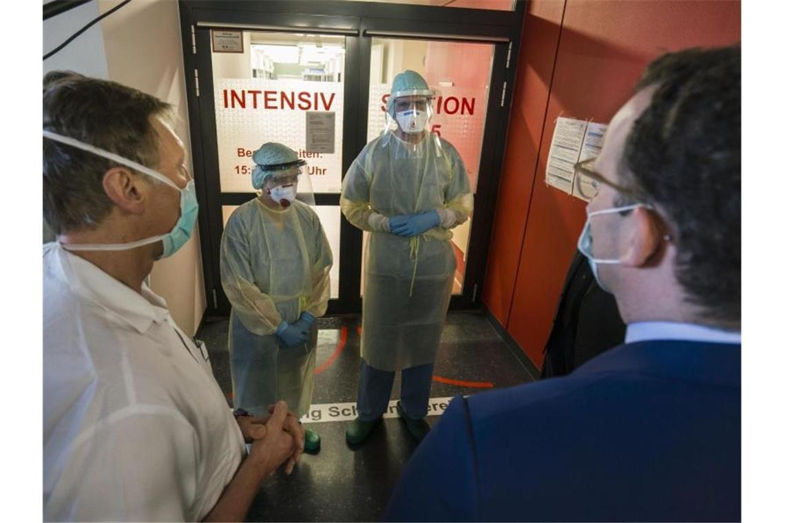
[[630, 131], [623, 182], [663, 209], [676, 276], [704, 319], [741, 322], [741, 48], [661, 56], [637, 91], [652, 102]]

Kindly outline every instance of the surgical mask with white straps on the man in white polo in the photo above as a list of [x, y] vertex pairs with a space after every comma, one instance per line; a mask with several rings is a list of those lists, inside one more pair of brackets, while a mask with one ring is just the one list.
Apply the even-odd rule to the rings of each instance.
[[44, 137], [49, 138], [49, 140], [66, 143], [71, 147], [76, 147], [78, 149], [82, 149], [82, 151], [88, 151], [90, 153], [97, 154], [98, 156], [108, 158], [112, 162], [126, 165], [139, 173], [146, 174], [151, 178], [155, 178], [155, 180], [166, 183], [170, 187], [173, 187], [180, 192], [180, 218], [177, 220], [177, 223], [174, 224], [172, 230], [166, 234], [160, 234], [159, 236], [153, 236], [152, 238], [144, 238], [137, 240], [136, 242], [128, 243], [69, 244], [63, 245], [64, 249], [71, 251], [125, 251], [127, 249], [141, 247], [142, 245], [162, 242], [163, 254], [161, 257], [168, 258], [181, 249], [181, 247], [185, 245], [186, 242], [188, 242], [188, 238], [191, 238], [191, 233], [196, 223], [196, 217], [199, 216], [199, 202], [196, 201], [194, 180], [189, 180], [188, 183], [186, 183], [185, 188], [181, 189], [180, 187], [177, 187], [177, 183], [174, 183], [172, 180], [162, 175], [161, 173], [134, 162], [133, 160], [129, 160], [128, 158], [123, 158], [122, 156], [119, 156], [119, 154], [104, 151], [104, 149], [100, 149], [99, 147], [95, 147], [89, 143], [83, 143], [79, 140], [75, 140], [68, 136], [62, 136], [57, 133], [52, 133], [50, 131], [44, 131], [43, 134]]

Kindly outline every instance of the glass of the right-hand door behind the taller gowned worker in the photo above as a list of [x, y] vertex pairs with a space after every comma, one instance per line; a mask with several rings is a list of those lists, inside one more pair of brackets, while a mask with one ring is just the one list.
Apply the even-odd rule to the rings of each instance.
[[[367, 140], [373, 140], [385, 128], [385, 111], [392, 79], [406, 69], [417, 71], [436, 91], [429, 130], [439, 133], [461, 154], [472, 192], [475, 193], [493, 55], [494, 45], [491, 44], [374, 38], [371, 42]], [[460, 64], [460, 67], [455, 64]], [[472, 217], [469, 216], [466, 223], [452, 231], [452, 244], [458, 262], [453, 286], [455, 294], [462, 293], [463, 289], [471, 222]], [[363, 267], [364, 256], [363, 249]]]

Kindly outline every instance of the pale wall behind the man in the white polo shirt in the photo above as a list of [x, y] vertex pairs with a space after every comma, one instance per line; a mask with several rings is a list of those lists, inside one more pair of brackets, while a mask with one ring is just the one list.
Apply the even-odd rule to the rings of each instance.
[[[46, 20], [45, 53], [119, 3], [97, 0]], [[175, 132], [191, 151], [177, 2], [124, 5], [44, 62], [45, 73], [55, 69], [108, 78], [166, 100], [177, 114]], [[186, 162], [193, 172], [191, 158], [187, 156]], [[155, 263], [150, 285], [166, 299], [177, 324], [193, 335], [206, 308], [199, 231], [177, 254]]]

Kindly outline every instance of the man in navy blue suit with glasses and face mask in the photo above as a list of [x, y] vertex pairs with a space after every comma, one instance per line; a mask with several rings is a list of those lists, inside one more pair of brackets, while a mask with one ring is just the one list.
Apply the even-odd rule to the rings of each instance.
[[741, 518], [741, 50], [655, 60], [588, 163], [579, 249], [625, 343], [455, 398], [387, 519]]

